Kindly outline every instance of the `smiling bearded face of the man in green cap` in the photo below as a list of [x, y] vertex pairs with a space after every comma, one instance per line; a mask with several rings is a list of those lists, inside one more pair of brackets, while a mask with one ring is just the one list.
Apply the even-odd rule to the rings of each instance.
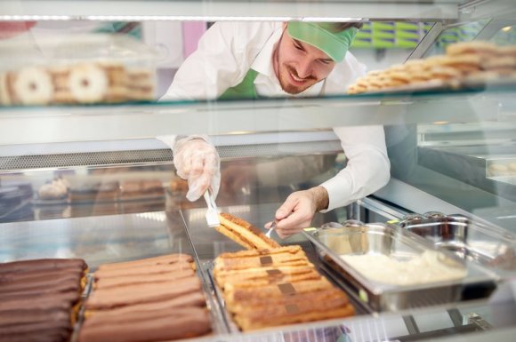
[[292, 38], [285, 28], [273, 62], [279, 84], [289, 94], [298, 94], [317, 84], [335, 68], [335, 61], [325, 52]]

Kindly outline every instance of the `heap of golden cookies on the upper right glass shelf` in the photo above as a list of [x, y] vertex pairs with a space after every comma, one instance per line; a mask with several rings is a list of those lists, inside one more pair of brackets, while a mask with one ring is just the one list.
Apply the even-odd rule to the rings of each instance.
[[473, 41], [450, 44], [446, 54], [373, 70], [349, 94], [476, 90], [516, 86], [516, 46]]

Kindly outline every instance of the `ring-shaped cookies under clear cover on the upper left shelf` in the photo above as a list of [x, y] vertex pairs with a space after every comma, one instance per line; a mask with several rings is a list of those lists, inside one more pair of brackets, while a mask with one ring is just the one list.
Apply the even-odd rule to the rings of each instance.
[[57, 35], [0, 42], [0, 105], [155, 99], [157, 52], [126, 35]]

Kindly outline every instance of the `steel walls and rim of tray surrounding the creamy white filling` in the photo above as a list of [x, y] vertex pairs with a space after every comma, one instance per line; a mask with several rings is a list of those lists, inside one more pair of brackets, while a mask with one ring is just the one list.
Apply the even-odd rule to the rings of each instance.
[[[399, 227], [347, 221], [344, 225], [325, 225], [303, 234], [314, 245], [322, 263], [342, 278], [346, 290], [374, 312], [485, 298], [496, 288], [496, 274], [468, 260], [456, 258], [448, 251], [439, 250], [422, 237]], [[394, 285], [367, 278], [340, 257], [343, 254], [382, 254], [408, 260], [424, 251], [439, 253], [443, 262], [464, 267], [466, 275], [451, 281]]]

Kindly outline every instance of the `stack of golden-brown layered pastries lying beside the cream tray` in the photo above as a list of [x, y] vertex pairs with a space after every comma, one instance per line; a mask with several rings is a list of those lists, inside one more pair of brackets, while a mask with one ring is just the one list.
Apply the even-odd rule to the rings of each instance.
[[346, 294], [313, 266], [300, 246], [223, 253], [214, 278], [241, 330], [354, 314]]

